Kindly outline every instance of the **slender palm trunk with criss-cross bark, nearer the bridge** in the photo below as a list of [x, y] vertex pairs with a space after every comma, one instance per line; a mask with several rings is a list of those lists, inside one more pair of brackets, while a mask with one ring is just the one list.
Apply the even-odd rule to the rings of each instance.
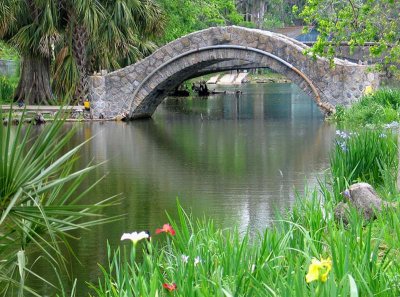
[[84, 26], [75, 24], [72, 35], [72, 52], [79, 72], [79, 81], [76, 86], [74, 100], [80, 104], [88, 96], [88, 75], [87, 75], [87, 31]]

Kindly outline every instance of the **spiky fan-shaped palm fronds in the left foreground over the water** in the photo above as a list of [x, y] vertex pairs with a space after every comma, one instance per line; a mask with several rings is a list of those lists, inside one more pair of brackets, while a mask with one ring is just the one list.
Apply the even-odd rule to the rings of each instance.
[[[8, 122], [11, 123], [12, 111]], [[39, 133], [32, 126], [0, 125], [0, 294], [23, 296], [25, 280], [33, 277], [50, 286], [32, 268], [44, 262], [54, 274], [68, 273], [66, 250], [69, 231], [112, 221], [101, 209], [115, 201], [96, 205], [81, 203], [95, 186], [82, 191], [82, 180], [96, 166], [75, 170], [83, 144], [69, 149], [74, 129], [61, 133], [64, 122], [56, 118]], [[71, 251], [73, 253], [73, 251]]]

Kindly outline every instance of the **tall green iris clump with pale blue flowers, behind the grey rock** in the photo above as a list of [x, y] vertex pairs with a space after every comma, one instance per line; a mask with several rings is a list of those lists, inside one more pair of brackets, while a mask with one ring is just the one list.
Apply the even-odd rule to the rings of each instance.
[[349, 184], [367, 182], [385, 188], [386, 194], [396, 192], [397, 136], [390, 130], [337, 131], [330, 165], [334, 192], [338, 195]]

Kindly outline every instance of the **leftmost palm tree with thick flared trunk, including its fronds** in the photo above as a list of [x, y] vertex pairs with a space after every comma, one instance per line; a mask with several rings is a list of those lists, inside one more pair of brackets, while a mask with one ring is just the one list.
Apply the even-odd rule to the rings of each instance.
[[0, 4], [0, 38], [22, 56], [16, 101], [48, 104], [52, 99], [50, 62], [52, 45], [60, 38], [58, 14], [51, 1], [3, 0]]

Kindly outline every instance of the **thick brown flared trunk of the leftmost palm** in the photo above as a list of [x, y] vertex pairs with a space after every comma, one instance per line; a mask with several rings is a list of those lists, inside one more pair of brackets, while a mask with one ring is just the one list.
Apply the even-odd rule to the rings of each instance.
[[46, 105], [53, 99], [50, 87], [50, 60], [43, 56], [23, 56], [21, 77], [14, 101]]

